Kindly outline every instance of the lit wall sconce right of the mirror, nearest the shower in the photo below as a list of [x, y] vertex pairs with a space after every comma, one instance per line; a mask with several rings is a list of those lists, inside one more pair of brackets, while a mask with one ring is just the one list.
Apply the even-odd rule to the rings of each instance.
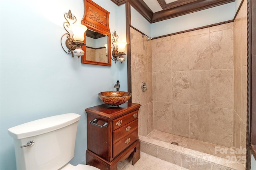
[[[112, 56], [113, 58], [111, 58], [113, 61], [120, 61], [121, 63], [123, 63], [123, 61], [125, 61], [123, 55], [125, 55], [124, 53], [124, 49], [126, 47], [126, 42], [118, 42], [118, 35], [116, 34], [116, 31], [113, 33], [113, 39], [112, 39], [112, 45], [113, 47], [111, 47], [113, 49], [112, 51]], [[114, 43], [116, 44], [116, 47], [114, 45]]]

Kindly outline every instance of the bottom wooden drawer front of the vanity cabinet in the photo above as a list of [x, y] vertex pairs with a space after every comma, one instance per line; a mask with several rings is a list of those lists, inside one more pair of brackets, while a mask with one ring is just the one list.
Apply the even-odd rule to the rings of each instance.
[[117, 156], [124, 149], [132, 145], [132, 143], [134, 143], [134, 141], [136, 141], [137, 139], [138, 139], [138, 128], [136, 128], [136, 131], [133, 131], [129, 135], [126, 135], [120, 141], [114, 144], [113, 157]]

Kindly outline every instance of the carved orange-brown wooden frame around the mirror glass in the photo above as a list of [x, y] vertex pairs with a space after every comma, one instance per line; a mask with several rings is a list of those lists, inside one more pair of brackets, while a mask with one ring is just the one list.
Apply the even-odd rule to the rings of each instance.
[[[102, 8], [92, 0], [84, 0], [84, 17], [81, 23], [85, 25], [88, 29], [107, 36], [108, 63], [86, 60], [86, 45], [82, 46], [82, 50], [85, 53], [82, 56], [82, 63], [111, 66], [111, 34], [109, 29], [108, 18], [108, 11], [106, 11], [104, 8]], [[84, 37], [86, 37], [86, 32], [84, 33]], [[84, 39], [84, 43], [86, 43], [86, 38]]]

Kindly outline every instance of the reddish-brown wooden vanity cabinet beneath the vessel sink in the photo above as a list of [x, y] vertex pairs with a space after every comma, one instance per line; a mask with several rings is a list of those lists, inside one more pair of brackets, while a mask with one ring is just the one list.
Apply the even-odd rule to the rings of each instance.
[[[85, 109], [87, 113], [86, 164], [100, 170], [117, 170], [119, 161], [132, 156], [134, 165], [140, 159], [138, 113], [140, 104], [124, 103], [119, 107], [107, 104]], [[94, 118], [98, 127], [90, 123]]]

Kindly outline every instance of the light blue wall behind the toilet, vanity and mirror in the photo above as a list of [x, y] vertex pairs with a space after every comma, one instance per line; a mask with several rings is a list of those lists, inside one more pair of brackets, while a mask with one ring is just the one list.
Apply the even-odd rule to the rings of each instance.
[[[110, 31], [126, 38], [125, 7], [110, 0], [94, 0], [110, 12]], [[66, 33], [64, 14], [71, 10], [78, 22], [83, 0], [1, 0], [0, 5], [0, 169], [15, 170], [13, 140], [7, 129], [43, 117], [78, 113], [75, 156], [85, 163], [87, 107], [102, 104], [98, 92], [114, 90], [120, 80], [127, 91], [127, 63], [112, 66], [81, 64], [60, 45]], [[125, 56], [126, 57], [126, 56]]]

